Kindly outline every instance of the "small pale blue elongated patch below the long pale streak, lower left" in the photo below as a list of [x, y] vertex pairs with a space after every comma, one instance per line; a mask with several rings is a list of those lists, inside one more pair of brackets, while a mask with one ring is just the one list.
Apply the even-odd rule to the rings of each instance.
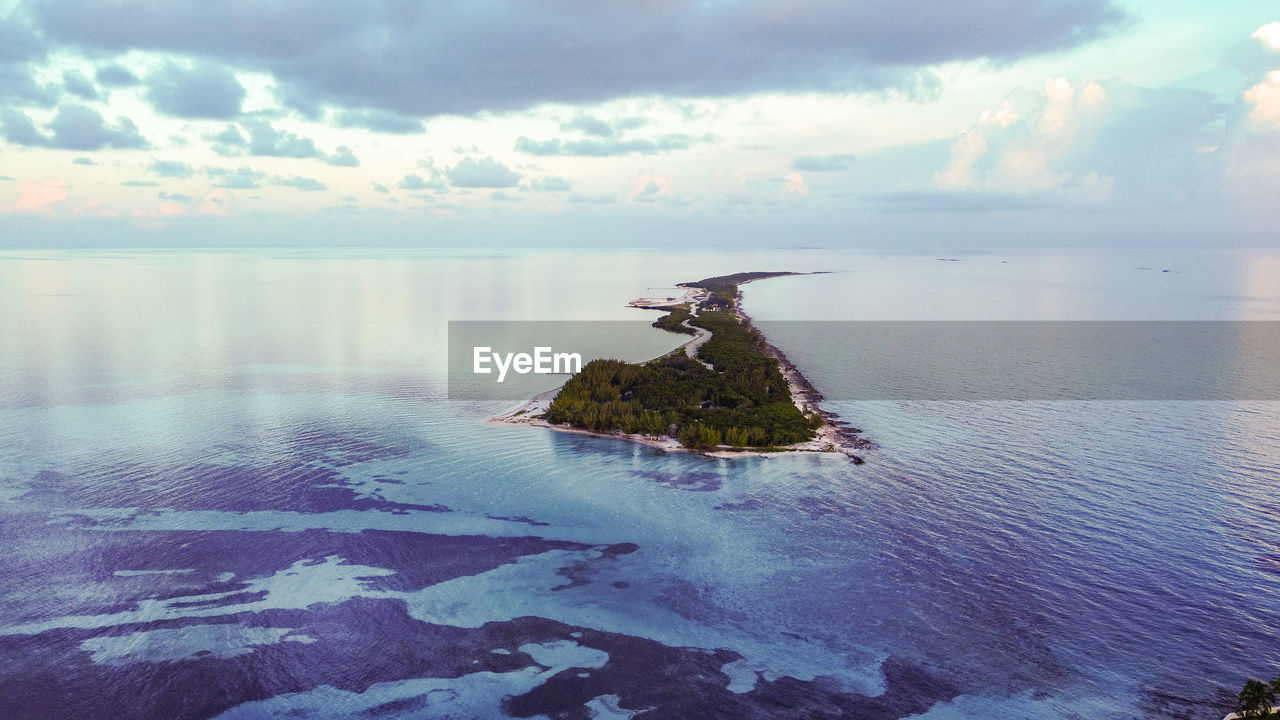
[[81, 643], [93, 662], [165, 662], [197, 656], [225, 660], [248, 655], [253, 648], [278, 642], [315, 642], [307, 635], [291, 635], [293, 628], [244, 628], [241, 625], [187, 625], [164, 630], [143, 630], [127, 635], [102, 635]]

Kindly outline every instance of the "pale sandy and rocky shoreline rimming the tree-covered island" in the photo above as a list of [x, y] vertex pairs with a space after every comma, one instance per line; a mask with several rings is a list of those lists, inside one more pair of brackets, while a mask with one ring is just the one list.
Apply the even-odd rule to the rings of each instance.
[[[815, 273], [790, 273], [790, 274], [815, 274]], [[756, 278], [746, 279], [737, 284], [746, 284], [754, 282], [755, 279]], [[759, 278], [759, 279], [768, 279], [768, 278]], [[662, 299], [639, 297], [636, 300], [627, 302], [627, 306], [641, 310], [657, 310], [659, 307], [664, 307], [668, 305], [689, 304], [691, 309], [699, 310], [701, 307], [701, 304], [710, 297], [710, 292], [704, 288], [684, 287], [684, 286], [681, 287], [685, 290], [685, 293], [681, 297], [662, 297]], [[751, 323], [751, 318], [742, 311], [741, 292], [739, 292], [739, 296], [733, 299], [732, 311], [733, 315], [740, 320], [742, 320], [744, 323], [746, 323], [748, 327], [759, 332], [759, 329]], [[667, 355], [684, 350], [686, 356], [689, 356], [690, 359], [696, 359], [698, 347], [701, 343], [707, 342], [712, 337], [712, 333], [709, 331], [694, 325], [686, 324], [686, 327], [690, 327], [694, 331], [696, 331], [696, 334], [694, 334], [690, 340], [673, 347], [672, 350], [663, 352], [658, 357], [666, 357]], [[760, 337], [763, 338], [764, 334], [760, 333]], [[685, 447], [684, 445], [680, 443], [678, 439], [671, 436], [646, 436], [637, 433], [623, 433], [621, 430], [596, 432], [568, 424], [557, 425], [548, 423], [547, 420], [541, 419], [540, 415], [547, 413], [547, 410], [550, 407], [552, 400], [556, 398], [556, 396], [559, 393], [563, 386], [538, 393], [534, 397], [526, 400], [525, 402], [515, 407], [511, 407], [509, 410], [499, 413], [498, 415], [494, 415], [493, 418], [489, 418], [485, 421], [494, 424], [504, 424], [504, 425], [527, 425], [535, 428], [547, 428], [564, 433], [577, 433], [600, 438], [621, 439], [653, 447], [662, 452], [691, 452], [696, 455], [704, 455], [707, 457], [723, 457], [723, 459], [753, 457], [753, 456], [771, 457], [780, 454], [791, 454], [791, 452], [803, 452], [803, 454], [819, 452], [824, 455], [841, 454], [849, 457], [849, 460], [855, 465], [861, 465], [864, 460], [860, 455], [856, 454], [856, 451], [873, 450], [876, 447], [876, 443], [861, 437], [859, 434], [861, 432], [860, 429], [846, 427], [849, 423], [840, 420], [835, 413], [824, 410], [822, 407], [822, 401], [824, 400], [822, 393], [818, 392], [818, 389], [813, 386], [813, 383], [810, 383], [809, 379], [804, 377], [804, 373], [801, 373], [800, 369], [796, 368], [790, 359], [787, 359], [786, 354], [774, 347], [773, 343], [768, 341], [768, 338], [764, 338], [764, 347], [765, 351], [769, 354], [769, 356], [772, 356], [778, 363], [778, 366], [782, 372], [782, 377], [786, 379], [787, 387], [791, 392], [791, 401], [796, 405], [796, 407], [799, 407], [805, 414], [817, 413], [818, 415], [822, 416], [822, 425], [819, 425], [814, 432], [813, 439], [768, 450], [762, 450], [762, 448], [733, 450], [727, 446], [721, 446], [714, 450], [708, 450], [708, 448]]]

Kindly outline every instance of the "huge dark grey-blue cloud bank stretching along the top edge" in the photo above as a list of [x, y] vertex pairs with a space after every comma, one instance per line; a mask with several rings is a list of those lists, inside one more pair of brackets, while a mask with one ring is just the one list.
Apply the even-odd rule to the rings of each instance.
[[314, 102], [408, 117], [658, 94], [919, 92], [932, 65], [1075, 47], [1126, 22], [1108, 0], [37, 0], [32, 14], [82, 49], [220, 59]]

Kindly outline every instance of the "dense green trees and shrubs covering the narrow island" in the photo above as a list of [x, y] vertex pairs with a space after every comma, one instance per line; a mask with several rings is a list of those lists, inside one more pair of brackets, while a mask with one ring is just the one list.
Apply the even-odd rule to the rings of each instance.
[[[759, 448], [812, 439], [822, 418], [806, 416], [792, 404], [764, 338], [732, 313], [739, 282], [778, 274], [787, 273], [741, 273], [687, 283], [712, 292], [701, 311], [663, 307], [668, 315], [654, 325], [689, 332], [682, 327], [687, 320], [710, 331], [698, 360], [684, 351], [639, 365], [593, 360], [556, 396], [547, 420], [595, 432], [669, 434], [686, 447]], [[723, 302], [712, 302], [717, 297]]]

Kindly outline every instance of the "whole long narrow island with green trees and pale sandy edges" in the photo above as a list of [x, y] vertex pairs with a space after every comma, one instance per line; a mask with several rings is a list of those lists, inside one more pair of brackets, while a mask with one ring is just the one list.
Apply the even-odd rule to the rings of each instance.
[[740, 286], [788, 272], [736, 273], [680, 283], [680, 299], [640, 299], [653, 323], [691, 340], [646, 363], [591, 360], [563, 387], [497, 418], [620, 437], [714, 456], [840, 452], [872, 447], [820, 407], [822, 396], [742, 313]]

